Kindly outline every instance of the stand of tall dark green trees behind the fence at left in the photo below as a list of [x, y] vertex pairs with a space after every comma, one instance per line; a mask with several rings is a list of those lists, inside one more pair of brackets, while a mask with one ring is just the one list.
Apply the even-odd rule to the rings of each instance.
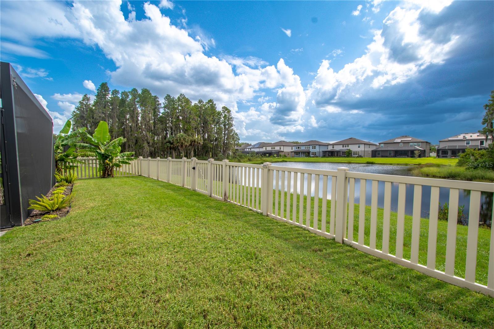
[[212, 99], [193, 104], [180, 94], [161, 101], [146, 88], [110, 91], [107, 82], [99, 85], [92, 102], [82, 96], [71, 120], [73, 129], [88, 132], [107, 122], [112, 139], [126, 139], [123, 152], [144, 158], [226, 158], [239, 142], [231, 110], [218, 109]]

